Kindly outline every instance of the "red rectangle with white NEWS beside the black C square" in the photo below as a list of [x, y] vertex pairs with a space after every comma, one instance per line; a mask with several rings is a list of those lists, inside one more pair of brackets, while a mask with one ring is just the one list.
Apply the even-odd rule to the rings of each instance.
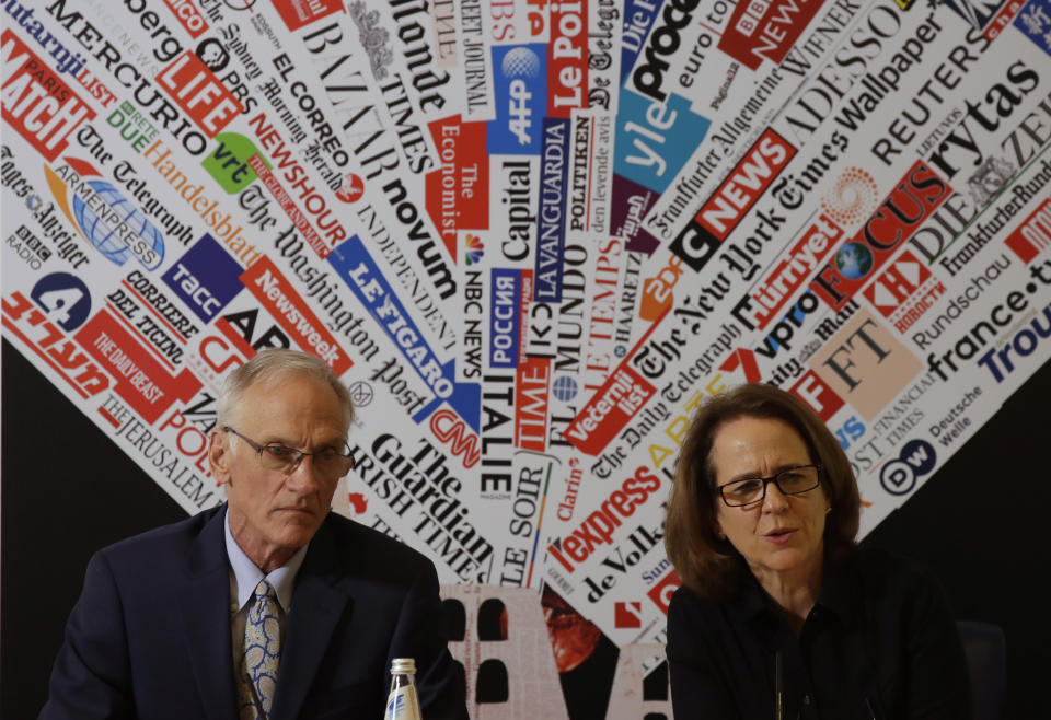
[[766, 128], [694, 219], [719, 241], [726, 240], [795, 154], [787, 140]]

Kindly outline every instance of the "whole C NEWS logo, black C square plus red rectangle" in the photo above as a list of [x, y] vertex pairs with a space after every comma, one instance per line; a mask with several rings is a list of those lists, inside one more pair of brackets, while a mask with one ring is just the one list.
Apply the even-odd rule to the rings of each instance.
[[671, 252], [700, 272], [719, 243], [737, 228], [795, 154], [794, 147], [766, 128], [719, 189], [682, 229], [671, 244]]

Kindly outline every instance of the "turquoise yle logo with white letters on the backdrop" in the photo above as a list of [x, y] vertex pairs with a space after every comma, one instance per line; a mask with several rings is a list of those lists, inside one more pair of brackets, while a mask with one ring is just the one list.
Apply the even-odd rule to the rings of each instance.
[[711, 125], [675, 93], [660, 102], [625, 88], [616, 115], [613, 172], [663, 193], [690, 160], [683, 149], [700, 144]]

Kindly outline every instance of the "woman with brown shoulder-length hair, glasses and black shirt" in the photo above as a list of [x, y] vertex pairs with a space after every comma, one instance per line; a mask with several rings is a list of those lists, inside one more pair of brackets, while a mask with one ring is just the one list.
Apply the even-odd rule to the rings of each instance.
[[794, 395], [741, 385], [700, 408], [665, 525], [675, 718], [971, 717], [940, 589], [855, 545], [859, 507], [843, 449]]

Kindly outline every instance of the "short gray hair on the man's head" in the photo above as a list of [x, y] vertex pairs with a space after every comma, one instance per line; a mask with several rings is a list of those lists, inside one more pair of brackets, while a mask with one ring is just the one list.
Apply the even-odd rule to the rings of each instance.
[[261, 350], [249, 362], [227, 375], [216, 403], [218, 427], [238, 422], [241, 399], [249, 387], [258, 382], [286, 375], [307, 375], [328, 383], [332, 392], [339, 398], [339, 404], [343, 405], [347, 428], [350, 428], [350, 422], [354, 420], [354, 402], [350, 399], [350, 392], [339, 382], [332, 368], [321, 358], [285, 348]]

